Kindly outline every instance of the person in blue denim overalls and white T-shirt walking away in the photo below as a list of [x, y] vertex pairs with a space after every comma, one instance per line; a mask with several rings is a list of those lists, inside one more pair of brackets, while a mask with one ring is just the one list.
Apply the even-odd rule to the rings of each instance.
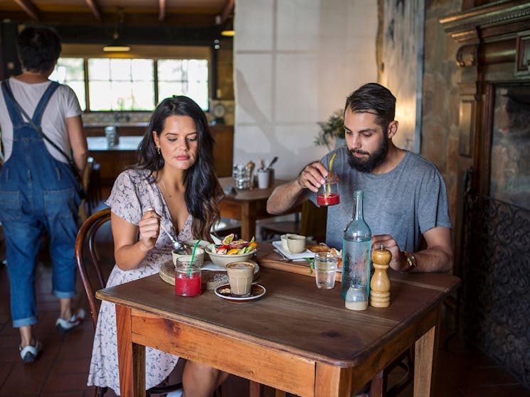
[[[74, 244], [80, 205], [77, 182], [68, 160], [36, 126], [63, 152], [73, 152], [80, 172], [85, 168], [88, 149], [75, 93], [48, 80], [61, 50], [57, 34], [45, 27], [25, 28], [18, 34], [17, 50], [23, 72], [2, 82], [0, 95], [5, 156], [0, 173], [0, 222], [6, 236], [11, 318], [21, 334], [21, 359], [28, 363], [41, 350], [33, 335], [33, 325], [38, 322], [34, 282], [44, 230], [50, 236], [53, 294], [60, 302], [55, 325], [65, 332], [85, 317], [84, 310], [73, 313], [70, 305], [75, 295]], [[19, 107], [32, 117], [33, 124]]]

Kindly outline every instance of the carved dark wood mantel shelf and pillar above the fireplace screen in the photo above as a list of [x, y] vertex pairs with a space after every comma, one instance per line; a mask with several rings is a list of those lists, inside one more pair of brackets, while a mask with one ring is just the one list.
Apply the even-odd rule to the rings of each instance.
[[[494, 86], [530, 82], [530, 0], [499, 0], [440, 18], [460, 46], [459, 169], [472, 166], [474, 185], [489, 191]], [[461, 189], [459, 188], [459, 191]]]

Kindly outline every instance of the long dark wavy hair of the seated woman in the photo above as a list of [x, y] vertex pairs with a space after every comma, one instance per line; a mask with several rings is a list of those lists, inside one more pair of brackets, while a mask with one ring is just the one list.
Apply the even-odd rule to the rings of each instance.
[[194, 237], [211, 241], [210, 230], [219, 219], [217, 205], [223, 190], [213, 165], [215, 141], [204, 112], [193, 99], [182, 95], [166, 98], [154, 109], [144, 138], [138, 146], [138, 163], [134, 168], [151, 170], [152, 175], [164, 167], [164, 158], [157, 153], [152, 131], [157, 131], [160, 136], [169, 116], [190, 116], [197, 126], [197, 159], [186, 172], [184, 198], [193, 218], [191, 232]]

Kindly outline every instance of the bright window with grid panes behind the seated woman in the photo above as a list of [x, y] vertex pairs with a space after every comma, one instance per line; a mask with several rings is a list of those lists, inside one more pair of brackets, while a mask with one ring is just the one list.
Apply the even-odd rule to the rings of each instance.
[[203, 59], [59, 58], [50, 79], [72, 87], [87, 111], [150, 111], [173, 95], [186, 95], [208, 109], [208, 60]]

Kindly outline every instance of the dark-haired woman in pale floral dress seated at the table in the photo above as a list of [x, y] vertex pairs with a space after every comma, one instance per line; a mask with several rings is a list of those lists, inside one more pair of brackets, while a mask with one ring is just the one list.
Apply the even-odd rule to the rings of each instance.
[[[139, 145], [139, 162], [115, 181], [107, 205], [116, 266], [107, 287], [159, 272], [171, 260], [171, 241], [160, 223], [180, 240], [211, 239], [223, 195], [213, 170], [213, 137], [206, 116], [188, 97], [172, 97], [154, 110]], [[185, 298], [184, 298], [185, 299]], [[146, 388], [174, 369], [179, 357], [146, 349]], [[186, 361], [186, 396], [211, 396], [228, 374]], [[103, 302], [97, 320], [89, 386], [110, 387], [120, 394], [115, 305]]]

